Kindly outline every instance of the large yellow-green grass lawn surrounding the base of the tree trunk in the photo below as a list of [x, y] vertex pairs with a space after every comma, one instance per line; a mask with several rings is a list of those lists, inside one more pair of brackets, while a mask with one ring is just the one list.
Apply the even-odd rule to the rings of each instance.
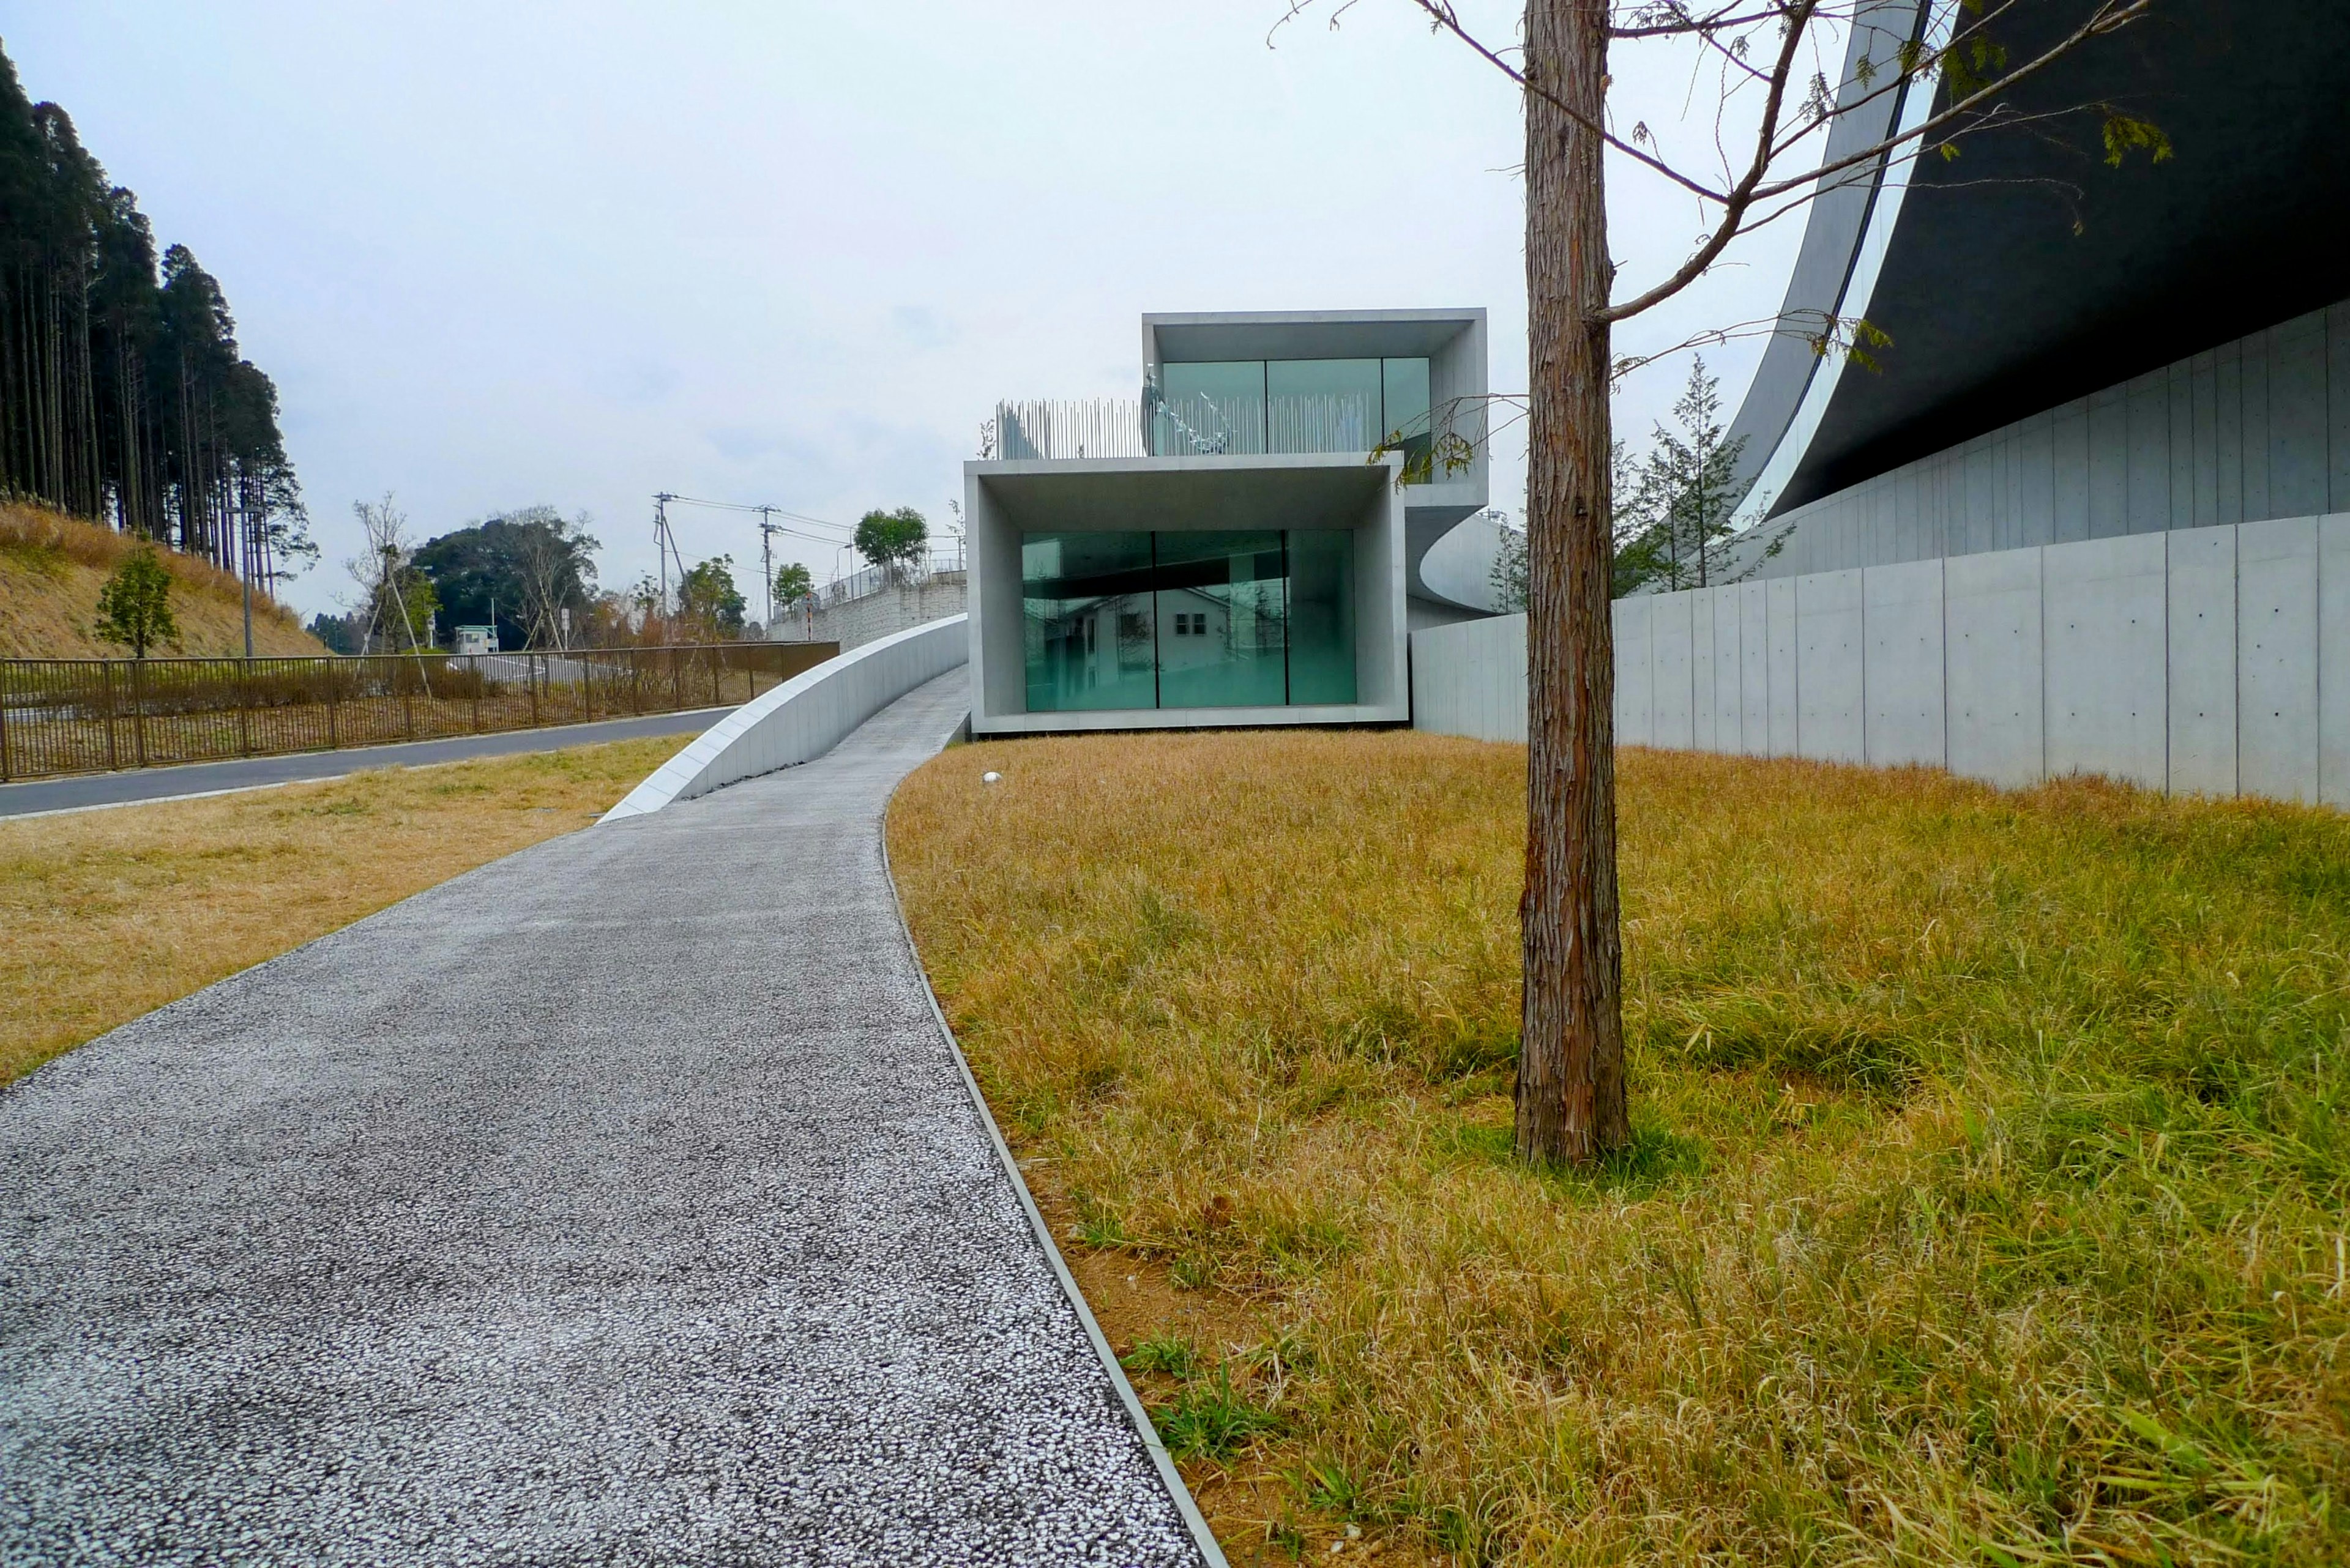
[[1511, 1157], [1523, 766], [1048, 738], [891, 809], [1236, 1561], [2350, 1561], [2350, 820], [1626, 752], [1577, 1175]]

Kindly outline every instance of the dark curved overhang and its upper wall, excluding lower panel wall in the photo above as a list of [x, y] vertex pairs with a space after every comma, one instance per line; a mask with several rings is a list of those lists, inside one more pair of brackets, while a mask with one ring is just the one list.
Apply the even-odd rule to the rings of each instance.
[[[1950, 7], [1880, 0], [1885, 61]], [[2009, 54], [2073, 26], [2021, 12]], [[2042, 38], [2047, 35], [2047, 38]], [[2350, 510], [2350, 7], [2176, 0], [2016, 89], [2014, 129], [1821, 195], [1781, 320], [1866, 317], [1875, 369], [1777, 339], [1739, 409], [1755, 576]], [[1882, 94], [1868, 146], [1941, 96]], [[2106, 101], [2174, 148], [2110, 167]], [[2082, 148], [2089, 143], [2089, 148]]]

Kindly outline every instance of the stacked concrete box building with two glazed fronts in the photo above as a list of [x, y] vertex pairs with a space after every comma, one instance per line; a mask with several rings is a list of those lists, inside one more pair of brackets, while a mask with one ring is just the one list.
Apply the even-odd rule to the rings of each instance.
[[1142, 317], [1135, 402], [964, 465], [975, 733], [1401, 724], [1429, 552], [1488, 498], [1485, 313]]

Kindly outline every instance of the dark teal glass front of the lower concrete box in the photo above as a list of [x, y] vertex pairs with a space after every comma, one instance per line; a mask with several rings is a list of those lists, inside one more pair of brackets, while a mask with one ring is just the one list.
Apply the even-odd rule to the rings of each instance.
[[1022, 534], [1027, 710], [1354, 703], [1354, 531]]

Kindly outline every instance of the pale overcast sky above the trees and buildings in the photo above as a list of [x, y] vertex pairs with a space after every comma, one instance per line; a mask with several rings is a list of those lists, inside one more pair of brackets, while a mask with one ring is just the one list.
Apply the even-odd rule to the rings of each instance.
[[[592, 512], [606, 585], [651, 569], [658, 489], [945, 524], [999, 397], [1135, 395], [1144, 310], [1485, 306], [1492, 383], [1520, 390], [1509, 82], [1405, 0], [1267, 47], [1281, 9], [0, 0], [0, 40], [277, 381], [324, 545], [308, 614], [352, 595], [350, 505], [383, 491], [418, 538]], [[1513, 5], [1464, 14], [1511, 38]], [[1617, 75], [1619, 115], [1711, 136], [1685, 61]], [[1612, 181], [1617, 259], [1654, 275], [1697, 216]], [[1798, 237], [1755, 237], [1619, 353], [1770, 315]], [[1730, 409], [1758, 353], [1708, 353]], [[1636, 376], [1619, 433], [1685, 374]], [[1511, 512], [1523, 473], [1506, 437]], [[757, 562], [738, 515], [674, 522], [686, 559]]]

